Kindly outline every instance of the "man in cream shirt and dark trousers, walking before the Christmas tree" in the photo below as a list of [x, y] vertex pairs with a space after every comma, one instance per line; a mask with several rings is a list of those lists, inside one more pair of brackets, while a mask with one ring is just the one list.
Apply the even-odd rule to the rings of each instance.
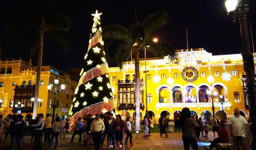
[[105, 130], [105, 125], [103, 120], [100, 119], [100, 115], [98, 113], [95, 114], [95, 119], [92, 121], [90, 130], [92, 131], [95, 150], [99, 150], [100, 140], [102, 133]]

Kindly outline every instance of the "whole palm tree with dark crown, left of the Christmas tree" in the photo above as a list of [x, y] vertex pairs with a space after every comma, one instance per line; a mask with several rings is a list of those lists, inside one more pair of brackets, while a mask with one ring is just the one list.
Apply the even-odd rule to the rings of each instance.
[[[62, 36], [62, 31], [69, 31], [70, 19], [56, 8], [54, 0], [26, 1], [26, 18], [24, 21], [24, 30], [29, 37], [28, 47], [30, 54], [33, 55], [38, 50], [36, 88], [34, 97], [33, 118], [37, 116], [38, 95], [40, 85], [40, 75], [42, 68], [42, 55], [44, 39], [56, 41], [60, 49], [66, 51], [69, 49], [67, 39]], [[54, 116], [53, 116], [54, 117]]]

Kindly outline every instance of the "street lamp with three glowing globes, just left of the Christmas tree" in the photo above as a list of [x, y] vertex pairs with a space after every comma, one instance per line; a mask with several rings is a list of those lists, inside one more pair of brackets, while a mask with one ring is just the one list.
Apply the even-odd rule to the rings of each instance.
[[[53, 93], [53, 95], [54, 95], [54, 101], [53, 101], [53, 105], [52, 105], [52, 124], [53, 124], [53, 122], [54, 122], [55, 109], [56, 109], [56, 107], [57, 107], [57, 106], [55, 105], [57, 93], [58, 93], [58, 92], [62, 93], [63, 90], [65, 89], [64, 83], [62, 83], [62, 85], [60, 86], [60, 89], [57, 88], [57, 87], [58, 87], [58, 83], [59, 83], [59, 80], [57, 79], [57, 77], [56, 77], [56, 79], [54, 79], [54, 83], [55, 83], [55, 88], [54, 88], [54, 89], [52, 89], [52, 86], [53, 86], [53, 85], [51, 85], [50, 83], [49, 83], [49, 85], [47, 86], [48, 92], [49, 92], [49, 93]], [[52, 90], [51, 90], [51, 89], [52, 89]]]

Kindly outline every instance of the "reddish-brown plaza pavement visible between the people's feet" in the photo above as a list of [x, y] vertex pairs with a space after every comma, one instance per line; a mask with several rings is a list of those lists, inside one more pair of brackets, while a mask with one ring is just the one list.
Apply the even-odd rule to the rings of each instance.
[[[213, 139], [213, 133], [212, 131], [209, 131], [208, 139], [206, 138], [200, 138], [201, 140], [198, 142], [199, 150], [204, 150], [203, 146], [208, 146], [210, 142], [208, 140]], [[150, 136], [144, 137], [144, 134], [133, 134], [132, 141], [134, 143], [134, 146], [125, 146], [126, 150], [183, 150], [183, 142], [182, 142], [182, 133], [168, 133], [168, 137], [165, 137], [163, 134], [163, 137], [160, 137], [159, 133], [151, 133]], [[66, 134], [66, 138], [59, 138], [58, 141], [58, 150], [94, 150], [94, 146], [84, 146], [84, 143], [78, 143], [78, 135], [74, 138], [74, 143], [70, 143], [72, 134]], [[2, 135], [3, 137], [3, 135]], [[25, 136], [24, 139], [24, 150], [33, 150], [33, 143], [30, 143], [30, 138]], [[126, 135], [124, 135], [123, 142], [125, 142]], [[4, 140], [3, 138], [0, 139], [0, 150], [10, 150], [10, 136], [7, 138], [7, 140]], [[82, 139], [83, 141], [83, 139]], [[52, 150], [54, 150], [54, 142], [52, 143]], [[128, 144], [129, 140], [128, 140]], [[42, 148], [48, 146], [48, 143], [43, 143]], [[101, 147], [102, 150], [106, 150], [106, 139], [104, 140], [104, 145]], [[190, 147], [192, 150], [192, 148]], [[16, 150], [18, 150], [18, 147], [16, 147]]]

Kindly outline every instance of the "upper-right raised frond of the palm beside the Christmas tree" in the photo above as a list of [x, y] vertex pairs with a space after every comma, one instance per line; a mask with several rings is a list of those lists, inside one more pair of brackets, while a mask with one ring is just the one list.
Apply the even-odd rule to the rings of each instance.
[[[167, 12], [156, 12], [150, 14], [148, 18], [143, 20], [142, 25], [144, 26], [145, 36], [150, 36], [150, 34], [157, 28], [167, 24], [170, 16]], [[146, 37], [145, 37], [146, 38]]]

